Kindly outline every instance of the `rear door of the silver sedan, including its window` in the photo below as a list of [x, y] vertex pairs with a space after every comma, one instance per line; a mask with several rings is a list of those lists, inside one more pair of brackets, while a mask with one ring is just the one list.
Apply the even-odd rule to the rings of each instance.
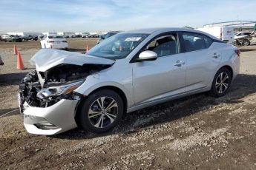
[[220, 47], [213, 40], [199, 33], [181, 33], [186, 55], [186, 92], [204, 89], [220, 64]]

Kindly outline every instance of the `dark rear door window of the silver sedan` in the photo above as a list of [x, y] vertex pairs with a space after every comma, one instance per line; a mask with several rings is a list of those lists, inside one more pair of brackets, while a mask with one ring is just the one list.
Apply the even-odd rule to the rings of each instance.
[[183, 41], [186, 52], [206, 49], [212, 43], [211, 38], [197, 33], [183, 33]]

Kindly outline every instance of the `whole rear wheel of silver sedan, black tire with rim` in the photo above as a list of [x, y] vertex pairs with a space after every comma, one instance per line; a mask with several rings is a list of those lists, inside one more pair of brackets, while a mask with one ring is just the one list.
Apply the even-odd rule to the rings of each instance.
[[[226, 77], [226, 75], [228, 77]], [[211, 95], [215, 98], [220, 98], [223, 95], [226, 95], [226, 92], [229, 90], [229, 87], [232, 82], [232, 75], [229, 72], [229, 69], [221, 68], [217, 71], [214, 76], [214, 80], [211, 84]]]

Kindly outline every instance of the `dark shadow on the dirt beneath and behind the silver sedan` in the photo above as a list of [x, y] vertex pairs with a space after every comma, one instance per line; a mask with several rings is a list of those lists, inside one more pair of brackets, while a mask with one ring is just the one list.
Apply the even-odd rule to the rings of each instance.
[[204, 92], [125, 114], [118, 126], [104, 134], [96, 135], [76, 128], [50, 137], [78, 140], [114, 134], [135, 133], [142, 128], [197, 114], [221, 103], [241, 103], [244, 97], [256, 92], [255, 84], [256, 75], [240, 74], [237, 75], [227, 95], [222, 98], [213, 98], [207, 92]]

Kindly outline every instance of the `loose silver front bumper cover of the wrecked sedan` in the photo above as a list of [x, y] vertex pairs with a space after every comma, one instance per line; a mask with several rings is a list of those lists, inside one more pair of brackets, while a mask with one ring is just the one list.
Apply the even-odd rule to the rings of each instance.
[[76, 128], [75, 111], [77, 100], [66, 100], [49, 107], [29, 106], [23, 104], [24, 127], [30, 134], [56, 135]]

